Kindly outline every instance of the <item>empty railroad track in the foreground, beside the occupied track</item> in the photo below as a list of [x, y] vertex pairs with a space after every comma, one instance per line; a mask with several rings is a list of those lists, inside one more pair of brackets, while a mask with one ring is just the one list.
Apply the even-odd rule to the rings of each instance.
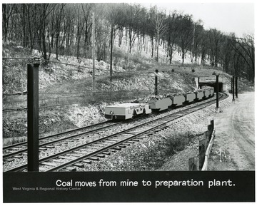
[[[226, 97], [227, 95], [223, 93], [220, 100]], [[41, 158], [39, 160], [39, 171], [56, 171], [61, 169], [72, 171], [76, 170], [76, 167], [83, 168], [85, 164], [91, 164], [92, 161], [105, 158], [106, 155], [111, 155], [111, 153], [126, 148], [126, 146], [136, 143], [148, 135], [163, 130], [168, 127], [169, 123], [173, 120], [193, 113], [196, 110], [201, 110], [212, 103], [215, 103], [215, 100], [200, 105], [194, 105], [191, 108], [186, 108], [176, 113], [150, 120], [147, 123], [136, 125], [133, 128], [122, 130], [119, 133], [107, 135], [104, 138], [92, 140], [74, 148], [61, 151], [60, 153], [49, 155], [46, 158]], [[6, 170], [5, 172], [24, 171], [26, 168], [27, 165], [24, 164], [17, 168]]]

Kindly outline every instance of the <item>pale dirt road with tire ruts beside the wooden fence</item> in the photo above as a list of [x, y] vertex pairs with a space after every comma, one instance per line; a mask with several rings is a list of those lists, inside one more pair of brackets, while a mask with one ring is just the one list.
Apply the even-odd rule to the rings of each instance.
[[208, 170], [254, 170], [254, 93], [239, 93], [235, 103], [215, 115], [214, 123]]

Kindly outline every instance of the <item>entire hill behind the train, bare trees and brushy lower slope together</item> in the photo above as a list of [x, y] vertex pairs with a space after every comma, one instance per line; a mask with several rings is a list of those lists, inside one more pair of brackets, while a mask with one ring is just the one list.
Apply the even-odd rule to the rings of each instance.
[[[92, 93], [93, 11], [96, 93]], [[159, 31], [154, 29], [158, 18], [165, 25]], [[184, 21], [188, 24], [182, 26]], [[193, 25], [195, 29], [188, 29]], [[186, 47], [174, 26], [180, 32], [188, 29], [191, 43]], [[26, 91], [26, 65], [30, 61], [14, 58], [41, 57], [41, 135], [103, 121], [107, 104], [148, 97], [154, 90], [156, 69], [160, 95], [193, 91], [193, 78], [210, 76], [213, 71], [222, 73], [228, 83], [231, 74], [236, 74], [240, 91], [253, 90], [251, 58], [242, 53], [252, 48], [253, 38], [236, 40], [216, 30], [203, 31], [191, 16], [176, 11], [166, 15], [156, 7], [147, 10], [138, 4], [3, 4], [3, 38], [2, 56], [7, 57], [2, 66], [4, 94]], [[223, 38], [236, 43], [233, 49], [226, 48], [227, 64], [221, 53], [225, 51]], [[211, 44], [214, 39], [218, 39], [215, 48]], [[26, 96], [4, 96], [4, 145], [26, 140], [26, 110], [17, 108], [26, 108]]]

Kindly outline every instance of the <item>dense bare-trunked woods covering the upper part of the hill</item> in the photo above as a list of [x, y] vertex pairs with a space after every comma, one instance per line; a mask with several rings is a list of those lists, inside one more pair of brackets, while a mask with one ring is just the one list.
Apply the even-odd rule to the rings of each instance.
[[[45, 60], [51, 53], [92, 58], [92, 14], [95, 19], [96, 59], [114, 64], [121, 55], [116, 48], [122, 43], [138, 53], [151, 52], [161, 61], [159, 46], [166, 52], [166, 62], [173, 63], [173, 53], [186, 54], [191, 63], [213, 68], [254, 81], [254, 37], [246, 34], [223, 34], [217, 29], [203, 29], [203, 22], [179, 11], [163, 11], [140, 4], [3, 4], [3, 42], [37, 49]], [[146, 41], [146, 39], [148, 41]], [[136, 42], [137, 41], [137, 42]], [[136, 42], [136, 43], [135, 43]], [[148, 43], [151, 42], [151, 43]], [[129, 68], [129, 63], [124, 69]]]

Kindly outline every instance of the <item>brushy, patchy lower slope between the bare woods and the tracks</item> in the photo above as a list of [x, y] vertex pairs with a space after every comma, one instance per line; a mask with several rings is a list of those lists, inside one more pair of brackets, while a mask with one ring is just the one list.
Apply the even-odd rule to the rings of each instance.
[[[160, 54], [162, 53], [160, 46]], [[104, 120], [104, 107], [120, 101], [148, 97], [154, 90], [153, 71], [158, 69], [158, 91], [163, 93], [184, 93], [193, 91], [196, 84], [193, 77], [210, 76], [217, 71], [209, 66], [178, 64], [178, 53], [172, 65], [156, 63], [149, 53], [139, 55], [132, 50], [129, 68], [124, 68], [126, 48], [119, 48], [119, 58], [114, 66], [113, 79], [109, 78], [109, 63], [96, 61], [96, 94], [92, 95], [91, 59], [74, 56], [59, 56], [51, 61], [61, 63], [41, 64], [39, 69], [39, 133], [49, 135], [62, 130], [90, 125]], [[164, 52], [163, 52], [164, 53]], [[38, 51], [16, 46], [3, 45], [3, 57], [28, 58], [40, 56]], [[117, 57], [117, 56], [116, 56]], [[164, 59], [164, 58], [163, 58]], [[26, 91], [26, 60], [3, 60], [3, 93]], [[221, 71], [218, 71], [221, 72]], [[129, 73], [129, 74], [127, 74]], [[223, 73], [228, 82], [231, 76]], [[248, 90], [249, 83], [241, 80], [239, 89]], [[253, 90], [253, 88], [251, 88]], [[78, 104], [79, 103], [79, 104]], [[26, 108], [26, 96], [4, 96], [3, 135], [4, 144], [26, 139], [26, 110], [6, 111], [9, 108]]]

